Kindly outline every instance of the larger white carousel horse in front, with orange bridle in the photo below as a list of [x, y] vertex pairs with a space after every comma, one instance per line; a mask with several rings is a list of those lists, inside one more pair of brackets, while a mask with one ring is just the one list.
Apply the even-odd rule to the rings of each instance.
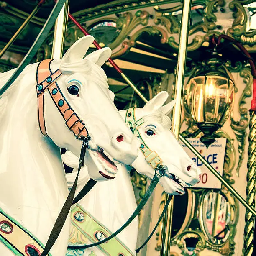
[[[125, 164], [131, 164], [138, 156], [138, 138], [115, 108], [113, 93], [108, 90], [107, 77], [100, 68], [110, 57], [111, 50], [98, 50], [83, 59], [93, 40], [92, 36], [80, 38], [62, 59], [49, 63], [51, 70], [60, 69], [62, 74], [57, 80], [58, 85], [50, 81], [51, 77], [45, 81], [53, 83], [64, 95], [60, 95], [63, 100], [59, 100], [58, 108], [52, 99], [56, 89], [45, 92], [43, 114], [49, 138], [41, 133], [41, 126], [39, 129], [37, 93], [42, 88], [41, 84], [36, 87], [37, 72], [47, 70], [37, 70], [38, 64], [27, 66], [0, 98], [1, 256], [39, 255], [67, 197], [60, 147], [79, 156], [82, 141], [65, 124], [62, 105], [68, 102], [69, 110], [72, 108], [76, 117], [84, 120], [92, 137], [90, 148], [96, 154], [101, 156], [104, 149], [109, 157]], [[13, 72], [0, 74], [0, 87]], [[79, 122], [83, 124], [82, 120]], [[76, 126], [78, 122], [74, 124]], [[76, 132], [82, 131], [84, 128]], [[114, 175], [116, 170], [105, 154], [101, 157], [102, 165], [107, 165], [105, 169], [110, 173], [113, 171]], [[65, 255], [69, 228], [67, 218], [51, 249], [52, 256]], [[35, 238], [31, 238], [30, 232]]]

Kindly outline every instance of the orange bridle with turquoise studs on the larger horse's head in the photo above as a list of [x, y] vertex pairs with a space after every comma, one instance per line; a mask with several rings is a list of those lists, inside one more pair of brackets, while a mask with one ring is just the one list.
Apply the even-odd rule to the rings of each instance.
[[51, 61], [53, 61], [53, 59], [41, 61], [38, 64], [36, 72], [38, 124], [41, 133], [43, 133], [44, 136], [48, 136], [44, 118], [44, 92], [47, 89], [56, 107], [66, 121], [65, 123], [69, 130], [71, 130], [77, 138], [83, 140], [88, 136], [87, 129], [84, 122], [74, 112], [61, 92], [56, 80], [62, 75], [62, 72], [60, 69], [57, 69], [52, 73], [50, 67]]

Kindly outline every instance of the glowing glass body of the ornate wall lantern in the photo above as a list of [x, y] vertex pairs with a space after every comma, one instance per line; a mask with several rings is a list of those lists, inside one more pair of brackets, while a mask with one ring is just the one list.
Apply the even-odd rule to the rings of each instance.
[[234, 84], [218, 75], [193, 77], [187, 86], [187, 107], [197, 123], [219, 123], [233, 106]]

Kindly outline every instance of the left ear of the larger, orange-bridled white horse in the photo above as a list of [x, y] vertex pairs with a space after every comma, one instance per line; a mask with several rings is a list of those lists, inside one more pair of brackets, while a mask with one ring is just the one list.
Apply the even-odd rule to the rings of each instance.
[[74, 63], [84, 58], [90, 45], [94, 41], [93, 36], [83, 36], [77, 40], [72, 46], [69, 47], [67, 52], [61, 59], [61, 64]]

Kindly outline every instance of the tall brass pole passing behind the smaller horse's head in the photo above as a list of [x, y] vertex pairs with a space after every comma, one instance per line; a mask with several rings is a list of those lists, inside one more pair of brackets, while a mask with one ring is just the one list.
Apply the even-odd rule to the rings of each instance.
[[[189, 33], [190, 11], [192, 0], [184, 0], [182, 8], [182, 23], [181, 31], [179, 35], [179, 54], [177, 63], [177, 74], [175, 82], [174, 99], [176, 104], [174, 105], [174, 111], [172, 114], [172, 131], [177, 139], [179, 139], [180, 120], [182, 114], [182, 97], [183, 97], [183, 84], [184, 84], [184, 72], [186, 68], [187, 57], [187, 41]], [[168, 200], [169, 195], [166, 195], [165, 202]], [[170, 203], [166, 214], [164, 215], [162, 240], [161, 240], [161, 256], [169, 256], [171, 231], [172, 231], [172, 210], [173, 202]]]

